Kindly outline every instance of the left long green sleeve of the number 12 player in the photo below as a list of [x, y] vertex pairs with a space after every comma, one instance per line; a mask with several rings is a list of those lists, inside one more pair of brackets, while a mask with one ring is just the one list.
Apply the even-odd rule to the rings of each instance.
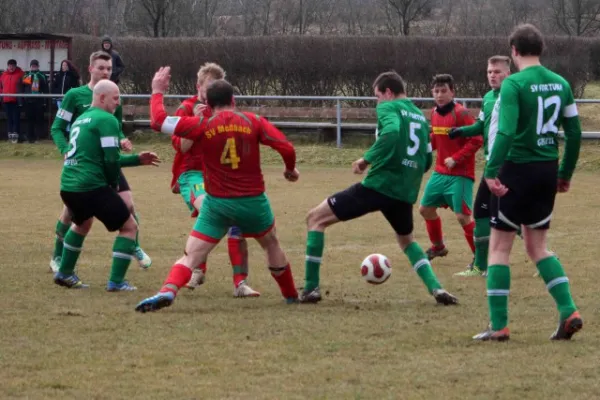
[[484, 177], [494, 179], [498, 176], [500, 167], [504, 164], [506, 156], [512, 147], [512, 142], [517, 133], [519, 120], [519, 89], [515, 83], [506, 79], [500, 89], [500, 116], [498, 132], [494, 145], [489, 149], [489, 160], [486, 164]]

